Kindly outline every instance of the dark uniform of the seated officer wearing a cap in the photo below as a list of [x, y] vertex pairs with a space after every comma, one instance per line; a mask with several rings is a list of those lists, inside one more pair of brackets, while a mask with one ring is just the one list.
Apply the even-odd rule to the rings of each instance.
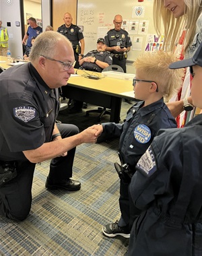
[[[90, 56], [95, 57], [96, 59], [98, 59], [98, 61], [103, 61], [108, 63], [108, 65], [112, 65], [112, 57], [108, 51], [104, 51], [104, 52], [98, 52], [97, 50], [90, 51], [83, 58], [90, 57]], [[91, 63], [91, 62], [83, 62], [83, 65], [81, 65], [81, 67], [83, 67], [86, 70], [96, 71], [96, 72], [102, 72], [103, 70], [96, 63]]]

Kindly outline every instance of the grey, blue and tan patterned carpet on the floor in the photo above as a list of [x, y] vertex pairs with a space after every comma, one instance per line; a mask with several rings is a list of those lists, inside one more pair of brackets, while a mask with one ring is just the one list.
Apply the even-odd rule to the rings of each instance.
[[[130, 106], [123, 102], [121, 120]], [[79, 113], [67, 117], [64, 111], [59, 120], [79, 121], [80, 129], [91, 125], [91, 115], [87, 118], [85, 113]], [[103, 120], [108, 121], [108, 117]], [[0, 217], [0, 255], [124, 255], [127, 238], [106, 238], [102, 234], [104, 224], [120, 217], [119, 179], [113, 168], [118, 161], [118, 143], [119, 139], [114, 139], [77, 147], [73, 178], [81, 181], [80, 191], [46, 190], [49, 161], [37, 164], [28, 218], [13, 222]]]

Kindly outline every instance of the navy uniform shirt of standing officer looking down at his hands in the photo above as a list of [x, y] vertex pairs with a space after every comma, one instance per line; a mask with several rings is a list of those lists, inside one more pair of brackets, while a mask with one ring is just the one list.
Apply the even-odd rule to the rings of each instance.
[[[129, 36], [129, 33], [121, 28], [121, 30], [116, 31], [114, 28], [112, 30], [109, 30], [104, 37], [106, 46], [112, 47], [112, 46], [124, 46], [124, 47], [130, 47], [132, 45], [131, 38]], [[118, 53], [116, 51], [112, 51], [111, 53]]]

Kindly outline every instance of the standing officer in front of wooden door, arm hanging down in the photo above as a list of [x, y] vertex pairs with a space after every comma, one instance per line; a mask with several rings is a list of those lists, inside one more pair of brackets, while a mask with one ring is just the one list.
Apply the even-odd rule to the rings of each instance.
[[[75, 57], [75, 68], [79, 68], [79, 60], [83, 57], [85, 42], [83, 38], [83, 32], [81, 28], [72, 24], [72, 17], [69, 12], [64, 14], [63, 18], [65, 24], [57, 29], [57, 32], [66, 36], [73, 46], [73, 52]], [[79, 44], [80, 42], [80, 44]]]

